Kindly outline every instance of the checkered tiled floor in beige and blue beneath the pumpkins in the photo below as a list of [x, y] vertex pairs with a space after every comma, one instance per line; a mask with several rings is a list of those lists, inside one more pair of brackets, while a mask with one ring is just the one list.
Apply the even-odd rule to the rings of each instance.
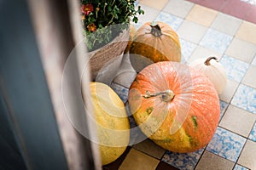
[[[161, 20], [177, 31], [183, 63], [215, 55], [224, 65], [228, 82], [219, 95], [221, 119], [204, 149], [177, 154], [145, 139], [129, 146], [119, 160], [103, 169], [256, 170], [255, 1], [140, 0], [137, 4], [145, 10], [137, 27]], [[129, 84], [126, 88], [120, 84], [117, 81], [112, 88], [126, 103]]]

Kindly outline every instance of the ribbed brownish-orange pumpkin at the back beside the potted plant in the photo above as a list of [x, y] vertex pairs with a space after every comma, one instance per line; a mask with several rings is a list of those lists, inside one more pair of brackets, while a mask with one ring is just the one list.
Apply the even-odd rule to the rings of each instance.
[[154, 62], [181, 60], [181, 48], [177, 33], [164, 22], [146, 22], [131, 43], [130, 54], [139, 54]]

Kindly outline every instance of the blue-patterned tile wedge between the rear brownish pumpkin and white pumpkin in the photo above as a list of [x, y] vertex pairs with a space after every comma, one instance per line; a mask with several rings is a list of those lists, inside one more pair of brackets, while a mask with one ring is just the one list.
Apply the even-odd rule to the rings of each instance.
[[192, 42], [185, 41], [183, 39], [180, 40], [181, 52], [182, 52], [182, 62], [187, 63], [189, 57], [193, 53], [196, 48], [196, 44]]

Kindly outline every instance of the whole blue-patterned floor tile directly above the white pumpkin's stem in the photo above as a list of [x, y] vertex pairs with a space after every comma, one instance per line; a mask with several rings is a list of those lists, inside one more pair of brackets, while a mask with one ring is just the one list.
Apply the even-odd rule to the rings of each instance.
[[224, 54], [224, 51], [228, 48], [232, 39], [233, 37], [230, 35], [210, 28], [202, 38], [200, 45]]

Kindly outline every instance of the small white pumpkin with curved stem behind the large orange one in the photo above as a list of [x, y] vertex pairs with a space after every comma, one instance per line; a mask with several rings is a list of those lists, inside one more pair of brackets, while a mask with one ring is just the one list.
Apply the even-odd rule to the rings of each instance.
[[227, 83], [227, 76], [223, 65], [218, 62], [216, 57], [208, 59], [195, 59], [189, 66], [206, 75], [214, 85], [218, 94], [221, 94]]

